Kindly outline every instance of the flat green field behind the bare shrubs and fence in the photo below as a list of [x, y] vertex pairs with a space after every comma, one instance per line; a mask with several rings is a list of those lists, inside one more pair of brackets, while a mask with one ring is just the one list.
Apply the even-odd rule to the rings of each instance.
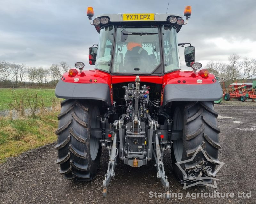
[[0, 110], [10, 109], [10, 104], [13, 103], [12, 92], [25, 94], [26, 91], [32, 91], [32, 94], [36, 92], [39, 100], [44, 100], [46, 107], [52, 106], [52, 98], [55, 97], [54, 89], [0, 89]]

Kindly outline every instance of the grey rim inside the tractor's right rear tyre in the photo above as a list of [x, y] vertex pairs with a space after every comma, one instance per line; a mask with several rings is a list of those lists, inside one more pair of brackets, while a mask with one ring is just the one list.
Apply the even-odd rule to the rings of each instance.
[[[173, 130], [182, 130], [183, 129], [183, 120], [180, 108], [177, 107], [173, 116]], [[183, 135], [183, 134], [182, 134]], [[182, 159], [183, 153], [183, 139], [180, 137], [179, 139], [173, 141], [173, 151], [174, 157], [177, 162], [180, 162]]]

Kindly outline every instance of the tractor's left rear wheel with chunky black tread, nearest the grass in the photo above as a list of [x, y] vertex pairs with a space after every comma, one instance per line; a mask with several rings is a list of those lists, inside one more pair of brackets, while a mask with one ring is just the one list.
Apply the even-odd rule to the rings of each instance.
[[97, 172], [101, 145], [98, 138], [90, 137], [91, 128], [100, 128], [97, 115], [98, 107], [89, 103], [71, 99], [61, 102], [55, 149], [60, 174], [68, 179], [88, 181]]

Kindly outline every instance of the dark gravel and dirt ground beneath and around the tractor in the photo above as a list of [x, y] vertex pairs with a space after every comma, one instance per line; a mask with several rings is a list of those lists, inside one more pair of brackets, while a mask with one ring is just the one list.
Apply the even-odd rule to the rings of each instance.
[[[65, 180], [58, 173], [55, 144], [25, 152], [0, 164], [0, 203], [256, 203], [256, 103], [224, 102], [215, 105], [221, 129], [219, 160], [225, 162], [217, 174], [218, 189], [200, 186], [183, 190], [172, 174], [170, 151], [164, 155], [165, 172], [170, 190], [182, 193], [182, 199], [150, 198], [149, 192], [163, 193], [153, 163], [132, 168], [118, 163], [115, 178], [108, 186], [108, 197], [102, 198], [102, 181], [108, 167], [103, 151], [100, 169], [91, 182]], [[228, 117], [228, 118], [225, 118]], [[188, 198], [190, 193], [234, 193], [234, 198]], [[238, 198], [237, 192], [251, 198]], [[241, 195], [241, 194], [240, 194]], [[200, 196], [199, 196], [200, 197]]]

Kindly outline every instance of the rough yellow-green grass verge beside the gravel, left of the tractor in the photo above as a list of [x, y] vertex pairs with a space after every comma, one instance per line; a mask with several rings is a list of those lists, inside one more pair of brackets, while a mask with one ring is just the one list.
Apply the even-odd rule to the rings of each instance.
[[56, 141], [57, 113], [17, 120], [0, 118], [0, 163], [6, 158]]

